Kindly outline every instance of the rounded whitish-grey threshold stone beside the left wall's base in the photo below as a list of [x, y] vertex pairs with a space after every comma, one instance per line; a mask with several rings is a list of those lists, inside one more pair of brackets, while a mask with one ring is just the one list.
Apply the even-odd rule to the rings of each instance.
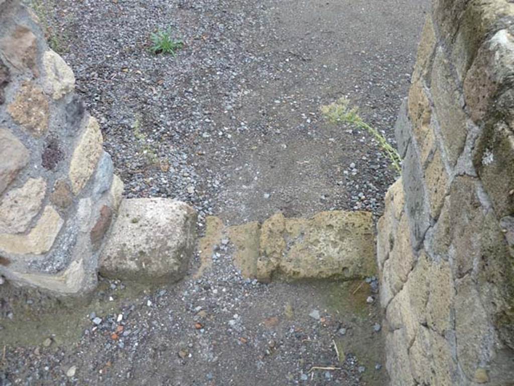
[[194, 255], [196, 213], [166, 198], [124, 199], [100, 253], [100, 273], [143, 282], [177, 281]]

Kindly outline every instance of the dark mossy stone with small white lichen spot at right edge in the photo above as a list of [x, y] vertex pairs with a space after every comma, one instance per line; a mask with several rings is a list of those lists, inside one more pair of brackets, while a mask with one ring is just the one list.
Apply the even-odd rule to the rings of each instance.
[[[499, 123], [484, 133], [475, 156], [484, 189], [498, 217], [514, 213], [514, 133]], [[501, 177], [500, 177], [501, 176]]]

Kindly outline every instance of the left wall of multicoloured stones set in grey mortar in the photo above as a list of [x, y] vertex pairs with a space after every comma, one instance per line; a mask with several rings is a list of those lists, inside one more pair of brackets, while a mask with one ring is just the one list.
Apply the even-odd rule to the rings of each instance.
[[0, 277], [61, 295], [96, 286], [123, 190], [74, 86], [36, 16], [0, 0]]

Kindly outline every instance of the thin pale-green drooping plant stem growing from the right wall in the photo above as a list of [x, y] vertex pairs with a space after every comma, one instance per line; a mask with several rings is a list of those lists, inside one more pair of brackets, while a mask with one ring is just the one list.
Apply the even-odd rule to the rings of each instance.
[[339, 98], [337, 102], [322, 106], [321, 112], [330, 123], [351, 123], [370, 133], [378, 142], [383, 152], [391, 159], [394, 169], [401, 174], [401, 157], [398, 151], [376, 128], [362, 120], [359, 116], [358, 108], [356, 106], [350, 106], [350, 100], [345, 97]]

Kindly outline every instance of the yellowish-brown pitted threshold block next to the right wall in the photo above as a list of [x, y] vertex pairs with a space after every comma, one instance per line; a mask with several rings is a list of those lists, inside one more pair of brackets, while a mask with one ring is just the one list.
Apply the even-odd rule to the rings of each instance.
[[277, 213], [260, 227], [255, 223], [243, 227], [234, 227], [231, 234], [236, 248], [242, 250], [236, 263], [247, 277], [267, 282], [376, 274], [371, 213], [321, 212], [309, 219]]

